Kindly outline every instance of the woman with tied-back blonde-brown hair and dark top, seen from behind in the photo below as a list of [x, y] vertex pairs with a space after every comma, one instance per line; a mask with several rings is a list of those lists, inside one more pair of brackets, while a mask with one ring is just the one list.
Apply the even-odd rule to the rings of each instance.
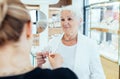
[[0, 0], [0, 79], [77, 79], [68, 68], [58, 68], [62, 63], [59, 54], [48, 55], [54, 70], [33, 68], [31, 36], [25, 6], [19, 0]]

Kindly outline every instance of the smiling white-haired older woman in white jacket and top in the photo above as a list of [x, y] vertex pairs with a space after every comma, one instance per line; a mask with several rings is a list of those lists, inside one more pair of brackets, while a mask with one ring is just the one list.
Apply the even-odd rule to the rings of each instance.
[[[61, 11], [61, 26], [64, 33], [49, 41], [53, 53], [63, 56], [63, 67], [73, 70], [79, 79], [105, 79], [102, 65], [97, 52], [97, 44], [80, 34], [81, 18], [73, 7]], [[45, 53], [46, 54], [46, 53]], [[38, 66], [45, 63], [44, 53], [37, 54]]]

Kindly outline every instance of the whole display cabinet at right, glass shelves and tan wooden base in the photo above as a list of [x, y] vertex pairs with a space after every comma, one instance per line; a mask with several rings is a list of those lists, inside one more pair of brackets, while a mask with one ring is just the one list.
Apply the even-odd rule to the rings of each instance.
[[[85, 6], [84, 27], [90, 38], [101, 46], [101, 62], [106, 79], [120, 79], [120, 1]], [[111, 56], [111, 58], [109, 57]], [[114, 62], [112, 57], [117, 59]]]

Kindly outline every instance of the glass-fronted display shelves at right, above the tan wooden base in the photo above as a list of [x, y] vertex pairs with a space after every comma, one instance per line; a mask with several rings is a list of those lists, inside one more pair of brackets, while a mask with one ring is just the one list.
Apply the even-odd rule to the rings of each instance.
[[120, 2], [102, 2], [85, 8], [87, 35], [97, 41], [99, 53], [117, 62], [120, 55]]

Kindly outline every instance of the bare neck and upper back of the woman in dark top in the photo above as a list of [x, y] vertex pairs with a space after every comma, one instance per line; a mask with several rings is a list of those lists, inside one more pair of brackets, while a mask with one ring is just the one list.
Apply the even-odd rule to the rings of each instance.
[[29, 55], [24, 50], [11, 45], [0, 48], [0, 76], [21, 74], [30, 67]]

